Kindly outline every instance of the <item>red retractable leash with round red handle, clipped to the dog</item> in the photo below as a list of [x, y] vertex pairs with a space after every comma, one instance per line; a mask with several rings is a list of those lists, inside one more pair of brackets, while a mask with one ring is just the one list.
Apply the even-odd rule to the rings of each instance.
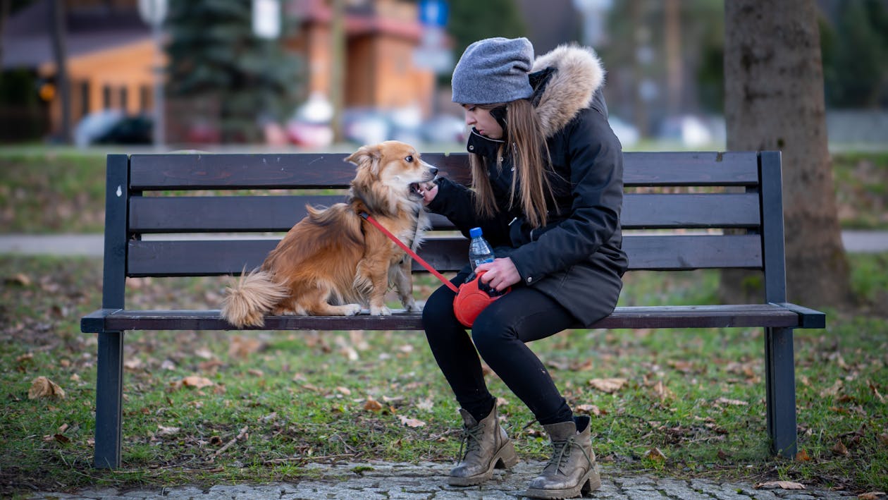
[[398, 237], [386, 229], [385, 226], [379, 224], [377, 219], [372, 218], [369, 213], [361, 212], [361, 218], [364, 218], [373, 226], [377, 226], [377, 229], [388, 236], [392, 242], [395, 242], [401, 250], [406, 251], [410, 257], [414, 258], [416, 262], [419, 263], [420, 266], [425, 267], [429, 273], [434, 274], [442, 283], [447, 285], [448, 289], [453, 290], [453, 292], [456, 293], [456, 298], [453, 300], [453, 312], [456, 315], [456, 319], [463, 323], [463, 326], [466, 328], [472, 328], [472, 323], [475, 322], [475, 318], [478, 317], [478, 314], [480, 314], [485, 307], [490, 306], [494, 300], [503, 297], [503, 295], [511, 291], [511, 287], [503, 291], [496, 291], [491, 288], [490, 285], [482, 283], [480, 277], [485, 273], [484, 271], [481, 271], [478, 274], [472, 273], [472, 275], [469, 276], [469, 281], [464, 282], [459, 288], [456, 288], [455, 284], [445, 278], [443, 274], [440, 274], [428, 262], [425, 262], [423, 258], [416, 255], [415, 251], [410, 250], [410, 247], [405, 245], [404, 242], [401, 242]]

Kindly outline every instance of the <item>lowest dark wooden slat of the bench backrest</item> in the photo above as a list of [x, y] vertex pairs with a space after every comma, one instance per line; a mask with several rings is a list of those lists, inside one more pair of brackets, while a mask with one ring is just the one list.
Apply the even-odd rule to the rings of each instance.
[[[262, 264], [277, 239], [163, 240], [129, 242], [129, 276], [212, 276], [240, 274]], [[760, 268], [761, 240], [757, 234], [627, 235], [623, 249], [630, 269], [679, 270], [713, 267]], [[431, 238], [420, 257], [440, 272], [458, 271], [468, 261], [467, 241]], [[414, 262], [416, 271], [424, 268]]]

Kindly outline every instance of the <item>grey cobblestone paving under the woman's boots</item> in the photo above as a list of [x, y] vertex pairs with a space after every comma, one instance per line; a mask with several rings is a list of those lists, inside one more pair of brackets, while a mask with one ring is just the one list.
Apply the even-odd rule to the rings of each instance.
[[[139, 500], [147, 498], [194, 500], [449, 500], [456, 498], [498, 500], [521, 498], [527, 481], [543, 463], [521, 462], [510, 472], [497, 471], [487, 483], [470, 488], [448, 486], [450, 464], [361, 463], [312, 465], [319, 479], [263, 485], [216, 485], [211, 488], [183, 486], [121, 490], [83, 489], [76, 493], [38, 492], [30, 498], [83, 500]], [[855, 497], [825, 488], [757, 489], [751, 482], [676, 480], [648, 476], [624, 476], [605, 468], [602, 486], [589, 498], [630, 500], [813, 500]]]

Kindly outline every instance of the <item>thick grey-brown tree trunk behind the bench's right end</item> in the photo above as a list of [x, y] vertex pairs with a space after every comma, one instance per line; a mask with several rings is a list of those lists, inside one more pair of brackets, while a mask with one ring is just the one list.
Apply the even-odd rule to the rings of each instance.
[[[852, 303], [836, 212], [814, 0], [726, 0], [725, 120], [730, 150], [781, 150], [788, 299]], [[748, 290], [736, 272], [722, 295]]]

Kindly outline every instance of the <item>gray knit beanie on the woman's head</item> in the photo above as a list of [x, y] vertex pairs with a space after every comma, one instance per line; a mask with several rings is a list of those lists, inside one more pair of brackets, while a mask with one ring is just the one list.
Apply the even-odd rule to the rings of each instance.
[[527, 73], [534, 46], [527, 38], [486, 38], [466, 47], [453, 70], [453, 101], [494, 104], [527, 99], [534, 93]]

